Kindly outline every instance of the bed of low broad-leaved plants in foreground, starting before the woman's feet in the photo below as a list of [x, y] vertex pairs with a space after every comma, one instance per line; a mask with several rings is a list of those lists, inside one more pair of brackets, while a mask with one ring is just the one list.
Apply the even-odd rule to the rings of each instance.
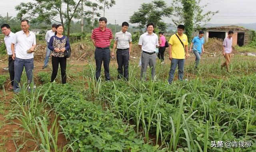
[[59, 123], [74, 142], [75, 151], [157, 151], [157, 146], [144, 144], [134, 125], [123, 123], [110, 109], [103, 110], [102, 106], [86, 101], [77, 86], [45, 84], [43, 87], [50, 90], [46, 99], [51, 99], [60, 114]]

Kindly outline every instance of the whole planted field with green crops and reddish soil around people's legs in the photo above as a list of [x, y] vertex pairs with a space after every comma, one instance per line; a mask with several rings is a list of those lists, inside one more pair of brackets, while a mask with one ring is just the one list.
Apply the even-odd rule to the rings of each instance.
[[131, 58], [126, 82], [116, 80], [117, 64], [111, 60], [112, 81], [96, 82], [94, 60], [68, 60], [65, 85], [60, 74], [49, 83], [51, 66], [42, 70], [42, 61], [36, 61], [37, 88], [28, 93], [23, 74], [20, 94], [6, 90], [8, 72], [2, 68], [8, 62], [3, 61], [0, 151], [255, 151], [255, 57], [232, 56], [230, 72], [220, 67], [223, 57], [204, 55], [198, 70], [194, 59], [186, 60], [188, 81], [178, 81], [176, 72], [172, 85], [170, 61], [161, 66], [157, 60], [155, 82], [142, 82], [138, 58]]

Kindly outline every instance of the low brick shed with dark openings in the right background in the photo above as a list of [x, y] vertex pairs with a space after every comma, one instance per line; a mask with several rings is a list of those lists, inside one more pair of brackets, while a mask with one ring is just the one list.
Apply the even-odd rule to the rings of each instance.
[[233, 45], [239, 45], [240, 47], [248, 44], [249, 29], [239, 27], [236, 25], [219, 26], [219, 27], [208, 27], [202, 29], [195, 29], [194, 36], [197, 36], [199, 31], [204, 31], [204, 39], [206, 42], [209, 38], [218, 38], [224, 40], [228, 36], [228, 31], [234, 31]]

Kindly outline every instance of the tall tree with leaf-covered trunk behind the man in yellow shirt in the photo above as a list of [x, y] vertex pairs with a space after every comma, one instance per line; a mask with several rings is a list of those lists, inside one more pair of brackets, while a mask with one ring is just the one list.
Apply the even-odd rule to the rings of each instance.
[[205, 25], [212, 19], [218, 11], [208, 11], [203, 13], [203, 9], [208, 5], [200, 6], [201, 0], [173, 0], [173, 17], [172, 22], [177, 26], [185, 25], [185, 33], [188, 36], [188, 41], [192, 39], [194, 28], [199, 28]]

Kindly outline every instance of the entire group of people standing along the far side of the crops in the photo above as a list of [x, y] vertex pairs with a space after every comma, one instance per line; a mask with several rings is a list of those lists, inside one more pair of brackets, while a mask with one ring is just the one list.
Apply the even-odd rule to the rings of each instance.
[[[122, 23], [122, 29], [113, 37], [111, 29], [106, 27], [107, 19], [102, 17], [99, 19], [99, 27], [93, 29], [91, 39], [95, 46], [95, 62], [96, 62], [96, 80], [100, 78], [100, 71], [103, 62], [105, 80], [110, 80], [109, 64], [110, 58], [114, 57], [116, 50], [116, 59], [118, 63], [118, 79], [124, 78], [128, 80], [129, 72], [129, 58], [132, 48], [132, 35], [129, 33], [127, 22]], [[32, 31], [29, 31], [29, 21], [26, 19], [21, 20], [21, 31], [15, 34], [11, 32], [8, 24], [1, 26], [2, 33], [5, 35], [4, 42], [6, 45], [8, 58], [8, 68], [10, 74], [10, 80], [14, 92], [19, 92], [20, 78], [22, 76], [23, 68], [25, 67], [28, 83], [33, 81], [33, 69], [34, 69], [34, 48], [36, 47], [36, 36]], [[155, 78], [156, 68], [156, 50], [158, 49], [158, 58], [161, 60], [161, 64], [164, 64], [164, 51], [166, 50], [166, 38], [164, 33], [159, 32], [158, 35], [154, 33], [154, 23], [148, 23], [146, 25], [146, 33], [140, 35], [138, 46], [141, 48], [141, 80], [146, 80], [146, 71], [148, 66], [151, 71], [151, 79]], [[199, 35], [194, 37], [191, 42], [190, 49], [188, 50], [188, 37], [183, 33], [185, 30], [184, 25], [178, 25], [177, 33], [170, 37], [168, 41], [169, 59], [171, 60], [170, 72], [169, 72], [169, 84], [172, 84], [174, 73], [178, 65], [178, 79], [183, 79], [184, 64], [186, 58], [188, 58], [188, 51], [193, 52], [196, 56], [195, 68], [198, 68], [202, 53], [204, 53], [204, 31], [199, 31]], [[52, 55], [52, 76], [51, 82], [53, 82], [58, 73], [58, 66], [60, 64], [61, 80], [62, 83], [66, 83], [66, 57], [64, 52], [70, 49], [69, 39], [62, 35], [63, 26], [61, 24], [52, 25], [52, 29], [46, 32], [45, 40], [47, 43], [46, 57], [44, 60], [43, 69], [48, 66], [50, 55]], [[221, 64], [222, 67], [230, 63], [230, 53], [232, 52], [232, 35], [233, 31], [228, 31], [228, 37], [223, 42], [223, 55], [225, 62]], [[110, 52], [110, 43], [114, 38], [114, 45], [112, 53]]]

